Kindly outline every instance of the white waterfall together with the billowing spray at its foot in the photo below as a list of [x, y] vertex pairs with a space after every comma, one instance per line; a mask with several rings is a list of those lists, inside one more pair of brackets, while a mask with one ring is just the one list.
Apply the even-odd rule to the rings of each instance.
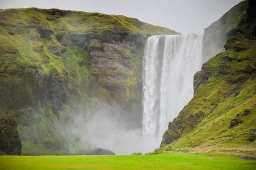
[[78, 127], [68, 128], [81, 139], [70, 152], [101, 147], [123, 155], [158, 148], [169, 121], [193, 96], [193, 76], [202, 66], [202, 39], [203, 33], [150, 37], [142, 61], [142, 129], [131, 128], [118, 108], [95, 101], [99, 109], [79, 114], [74, 121]]

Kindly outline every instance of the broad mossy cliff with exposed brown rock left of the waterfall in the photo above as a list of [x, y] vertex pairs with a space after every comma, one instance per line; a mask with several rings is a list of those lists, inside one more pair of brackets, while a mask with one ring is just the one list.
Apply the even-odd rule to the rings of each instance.
[[0, 116], [16, 118], [23, 154], [68, 152], [80, 140], [65, 133], [77, 114], [105, 104], [141, 126], [143, 49], [163, 34], [177, 32], [120, 15], [1, 10]]

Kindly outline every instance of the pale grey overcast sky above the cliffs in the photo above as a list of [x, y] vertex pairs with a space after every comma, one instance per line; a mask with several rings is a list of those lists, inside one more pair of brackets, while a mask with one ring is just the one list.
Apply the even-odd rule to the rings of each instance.
[[0, 8], [59, 8], [117, 14], [173, 29], [203, 32], [241, 0], [0, 0]]

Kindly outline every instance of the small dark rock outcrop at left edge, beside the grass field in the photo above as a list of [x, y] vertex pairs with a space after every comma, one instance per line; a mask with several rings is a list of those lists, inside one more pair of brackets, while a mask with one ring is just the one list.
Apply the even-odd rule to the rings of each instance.
[[20, 155], [22, 152], [17, 123], [12, 116], [0, 117], [0, 150], [7, 155]]

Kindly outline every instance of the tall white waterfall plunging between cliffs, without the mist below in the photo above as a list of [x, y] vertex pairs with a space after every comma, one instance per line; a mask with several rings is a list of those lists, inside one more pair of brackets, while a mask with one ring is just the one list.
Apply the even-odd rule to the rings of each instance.
[[[143, 66], [143, 134], [161, 142], [169, 121], [192, 99], [193, 77], [202, 67], [203, 33], [152, 36]], [[159, 145], [159, 143], [158, 143]]]

